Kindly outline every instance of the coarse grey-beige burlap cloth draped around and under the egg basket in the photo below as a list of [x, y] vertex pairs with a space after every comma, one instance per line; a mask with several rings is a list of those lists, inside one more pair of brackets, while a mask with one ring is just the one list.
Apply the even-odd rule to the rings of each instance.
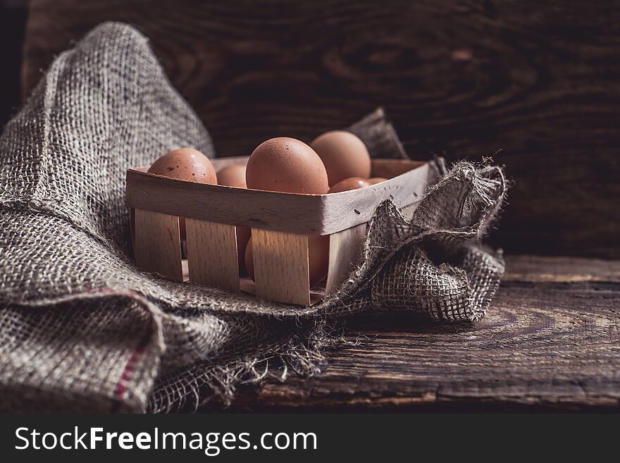
[[[373, 156], [404, 156], [381, 111], [349, 129]], [[118, 23], [58, 56], [4, 128], [2, 411], [192, 409], [230, 400], [240, 382], [320, 372], [330, 327], [349, 314], [471, 323], [488, 309], [504, 264], [480, 241], [502, 206], [500, 168], [434, 163], [414, 213], [382, 204], [341, 290], [302, 307], [136, 270], [125, 172], [177, 147], [215, 155], [147, 39]]]

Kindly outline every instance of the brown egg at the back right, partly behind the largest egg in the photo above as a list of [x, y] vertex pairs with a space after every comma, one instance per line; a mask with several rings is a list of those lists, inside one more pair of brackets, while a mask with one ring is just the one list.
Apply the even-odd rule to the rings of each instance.
[[310, 146], [325, 164], [330, 186], [350, 177], [371, 175], [371, 156], [364, 142], [351, 132], [332, 130], [319, 135]]

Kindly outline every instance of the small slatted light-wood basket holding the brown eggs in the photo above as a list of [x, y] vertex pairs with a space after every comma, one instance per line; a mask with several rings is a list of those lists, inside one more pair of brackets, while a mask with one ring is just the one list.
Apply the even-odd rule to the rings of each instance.
[[[247, 156], [214, 159], [216, 171]], [[372, 176], [389, 180], [331, 195], [246, 190], [127, 171], [126, 203], [135, 216], [134, 253], [144, 271], [264, 300], [311, 304], [335, 292], [361, 255], [368, 221], [394, 197], [412, 206], [433, 180], [422, 161], [373, 159]], [[187, 271], [178, 217], [185, 217]], [[235, 226], [252, 228], [256, 284], [239, 277]], [[325, 288], [310, 288], [308, 237], [330, 236]]]

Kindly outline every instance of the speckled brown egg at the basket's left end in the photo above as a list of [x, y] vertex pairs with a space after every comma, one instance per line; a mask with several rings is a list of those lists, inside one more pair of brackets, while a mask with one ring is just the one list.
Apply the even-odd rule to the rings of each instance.
[[[149, 173], [163, 177], [178, 178], [196, 183], [218, 184], [213, 164], [201, 152], [192, 148], [180, 148], [159, 156], [149, 167]], [[185, 240], [185, 218], [179, 218], [181, 240]]]

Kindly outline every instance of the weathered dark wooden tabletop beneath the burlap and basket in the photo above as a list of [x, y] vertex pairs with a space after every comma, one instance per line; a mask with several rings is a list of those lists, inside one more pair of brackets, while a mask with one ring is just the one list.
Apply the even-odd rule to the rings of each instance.
[[322, 374], [243, 388], [230, 410], [620, 412], [620, 261], [507, 263], [475, 326], [358, 316]]

